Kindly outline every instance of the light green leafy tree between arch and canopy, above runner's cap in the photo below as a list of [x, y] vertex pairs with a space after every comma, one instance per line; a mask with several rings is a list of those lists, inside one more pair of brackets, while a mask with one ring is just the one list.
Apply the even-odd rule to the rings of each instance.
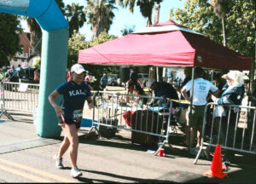
[[89, 47], [90, 45], [85, 41], [84, 35], [74, 30], [72, 37], [68, 39], [67, 67], [70, 68], [73, 64], [78, 63], [80, 49]]

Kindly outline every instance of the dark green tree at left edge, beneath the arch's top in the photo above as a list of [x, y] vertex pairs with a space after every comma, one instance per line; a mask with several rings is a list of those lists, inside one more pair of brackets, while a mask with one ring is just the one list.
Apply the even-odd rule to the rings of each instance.
[[9, 66], [9, 55], [21, 52], [19, 25], [16, 15], [0, 13], [0, 66]]

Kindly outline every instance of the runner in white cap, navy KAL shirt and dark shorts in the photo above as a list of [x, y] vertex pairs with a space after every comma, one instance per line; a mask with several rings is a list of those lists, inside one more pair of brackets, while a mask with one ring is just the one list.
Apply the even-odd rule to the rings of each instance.
[[[60, 125], [65, 133], [58, 154], [54, 156], [55, 166], [64, 169], [62, 156], [69, 148], [69, 158], [72, 164], [71, 176], [79, 177], [82, 172], [77, 167], [79, 136], [78, 131], [83, 117], [84, 102], [87, 101], [89, 108], [93, 107], [90, 87], [84, 83], [84, 67], [75, 64], [71, 67], [70, 80], [58, 86], [50, 95], [49, 103], [55, 108], [57, 117], [60, 117]], [[55, 103], [55, 98], [63, 96], [61, 106]]]

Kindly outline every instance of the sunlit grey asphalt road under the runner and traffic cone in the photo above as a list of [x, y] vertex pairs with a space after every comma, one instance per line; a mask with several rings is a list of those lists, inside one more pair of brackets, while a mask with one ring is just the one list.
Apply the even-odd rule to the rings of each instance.
[[[16, 121], [4, 115], [0, 120], [0, 182], [232, 182], [256, 181], [256, 160], [251, 155], [237, 155], [224, 179], [204, 175], [212, 161], [195, 156], [188, 158], [181, 142], [183, 135], [172, 135], [172, 147], [165, 147], [165, 157], [154, 156], [139, 145], [131, 146], [131, 132], [119, 131], [112, 139], [85, 139], [89, 129], [79, 131], [78, 166], [83, 176], [70, 176], [68, 154], [65, 170], [55, 169], [51, 159], [61, 145], [60, 139], [44, 139], [36, 135], [32, 115], [12, 112]], [[61, 135], [62, 136], [62, 135]]]

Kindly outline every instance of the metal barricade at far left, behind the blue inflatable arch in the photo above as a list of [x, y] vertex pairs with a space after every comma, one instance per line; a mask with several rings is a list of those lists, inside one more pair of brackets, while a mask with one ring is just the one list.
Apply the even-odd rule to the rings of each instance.
[[1, 103], [7, 110], [36, 112], [39, 84], [3, 82]]

